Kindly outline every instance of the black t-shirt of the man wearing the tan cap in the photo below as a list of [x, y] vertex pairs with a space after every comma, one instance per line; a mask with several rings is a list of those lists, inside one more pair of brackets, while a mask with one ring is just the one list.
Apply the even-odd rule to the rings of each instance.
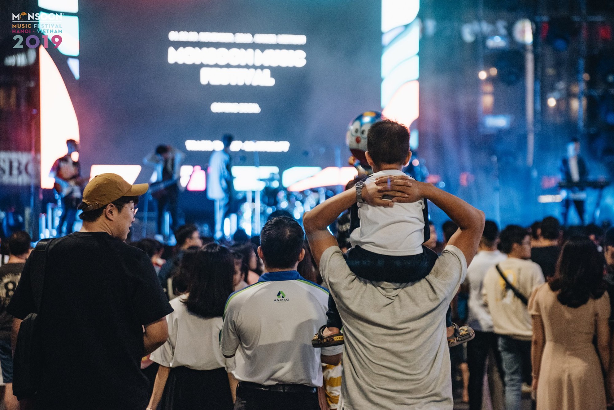
[[[28, 262], [7, 310], [20, 319], [34, 311]], [[41, 407], [146, 408], [142, 326], [171, 312], [144, 251], [106, 232], [54, 240], [39, 313]]]

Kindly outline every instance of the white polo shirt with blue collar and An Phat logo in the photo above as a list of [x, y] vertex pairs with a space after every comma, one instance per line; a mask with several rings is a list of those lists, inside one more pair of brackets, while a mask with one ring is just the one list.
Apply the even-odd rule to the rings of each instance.
[[230, 295], [220, 333], [222, 353], [236, 353], [239, 381], [263, 385], [322, 385], [320, 353], [336, 355], [343, 345], [314, 349], [311, 338], [326, 324], [328, 291], [296, 270], [268, 272]]

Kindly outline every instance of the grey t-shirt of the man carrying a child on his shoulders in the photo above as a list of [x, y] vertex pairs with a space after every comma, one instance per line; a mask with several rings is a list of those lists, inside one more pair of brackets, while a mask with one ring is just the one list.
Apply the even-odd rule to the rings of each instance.
[[338, 246], [324, 251], [320, 271], [343, 320], [340, 408], [451, 410], [445, 316], [467, 274], [461, 250], [446, 246], [413, 283], [363, 280]]

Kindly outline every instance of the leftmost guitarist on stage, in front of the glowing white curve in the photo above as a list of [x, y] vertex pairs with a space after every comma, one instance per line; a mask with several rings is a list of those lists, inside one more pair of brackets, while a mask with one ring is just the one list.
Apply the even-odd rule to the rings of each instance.
[[72, 226], [77, 216], [77, 205], [81, 203], [82, 184], [87, 178], [81, 177], [81, 165], [79, 164], [79, 144], [75, 140], [66, 141], [68, 153], [55, 160], [49, 176], [55, 178], [53, 188], [57, 192], [62, 203], [62, 214], [58, 225], [57, 236], [62, 236], [64, 223], [66, 223], [66, 235], [72, 232]]

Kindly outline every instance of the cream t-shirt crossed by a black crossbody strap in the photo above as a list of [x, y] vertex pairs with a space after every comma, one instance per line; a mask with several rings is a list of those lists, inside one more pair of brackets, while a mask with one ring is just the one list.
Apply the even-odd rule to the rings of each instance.
[[[528, 259], [507, 258], [499, 262], [503, 275], [527, 299], [535, 288], [544, 283], [542, 268]], [[527, 306], [513, 291], [505, 289], [505, 281], [492, 266], [482, 288], [484, 304], [491, 313], [494, 332], [529, 341], [533, 335], [532, 321]]]

